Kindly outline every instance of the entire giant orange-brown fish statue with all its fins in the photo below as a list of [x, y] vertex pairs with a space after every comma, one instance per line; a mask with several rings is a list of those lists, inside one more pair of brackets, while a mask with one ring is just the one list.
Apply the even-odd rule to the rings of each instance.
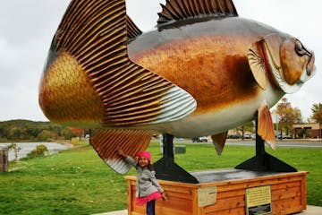
[[269, 107], [301, 88], [314, 54], [301, 41], [238, 16], [230, 0], [167, 0], [142, 33], [125, 0], [73, 0], [52, 41], [39, 87], [51, 121], [94, 129], [91, 144], [116, 172], [153, 133], [211, 135], [258, 118], [275, 148]]

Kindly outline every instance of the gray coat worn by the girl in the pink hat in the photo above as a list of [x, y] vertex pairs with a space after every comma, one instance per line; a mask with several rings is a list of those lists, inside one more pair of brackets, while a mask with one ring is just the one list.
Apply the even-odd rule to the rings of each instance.
[[140, 168], [138, 162], [127, 156], [125, 161], [131, 164], [134, 168], [137, 169], [137, 182], [136, 182], [136, 197], [148, 196], [151, 193], [160, 192], [163, 193], [164, 190], [157, 182], [156, 172], [151, 171], [148, 167]]

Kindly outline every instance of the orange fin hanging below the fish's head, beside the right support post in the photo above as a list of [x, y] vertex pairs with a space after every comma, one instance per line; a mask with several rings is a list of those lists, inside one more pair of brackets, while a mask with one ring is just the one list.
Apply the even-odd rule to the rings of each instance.
[[272, 116], [267, 105], [258, 108], [258, 135], [275, 150], [275, 133]]

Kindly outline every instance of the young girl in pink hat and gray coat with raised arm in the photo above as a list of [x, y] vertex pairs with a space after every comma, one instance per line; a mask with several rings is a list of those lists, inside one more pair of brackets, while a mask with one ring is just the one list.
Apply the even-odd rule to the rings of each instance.
[[117, 153], [125, 159], [125, 162], [131, 164], [137, 169], [136, 183], [136, 204], [147, 204], [147, 214], [155, 214], [156, 199], [164, 198], [164, 190], [157, 182], [156, 172], [151, 164], [151, 154], [148, 151], [141, 151], [137, 154], [138, 160], [126, 155], [122, 149], [118, 149]]

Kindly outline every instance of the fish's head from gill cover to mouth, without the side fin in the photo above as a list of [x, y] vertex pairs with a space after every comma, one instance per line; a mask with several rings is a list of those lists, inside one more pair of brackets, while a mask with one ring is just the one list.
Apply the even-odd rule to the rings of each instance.
[[285, 93], [299, 90], [314, 75], [314, 53], [299, 39], [272, 34], [263, 39], [263, 45], [268, 70]]

